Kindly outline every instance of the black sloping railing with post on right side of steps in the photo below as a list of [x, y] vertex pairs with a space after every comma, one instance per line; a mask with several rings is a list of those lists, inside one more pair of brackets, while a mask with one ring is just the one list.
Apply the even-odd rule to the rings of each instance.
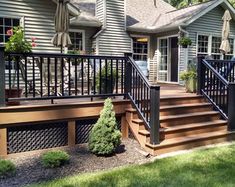
[[235, 130], [234, 61], [198, 60], [198, 94], [204, 95]]

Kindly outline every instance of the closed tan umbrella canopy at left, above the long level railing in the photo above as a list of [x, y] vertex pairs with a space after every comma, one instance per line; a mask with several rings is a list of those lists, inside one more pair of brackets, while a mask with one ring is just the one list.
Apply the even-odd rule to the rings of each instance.
[[56, 34], [51, 40], [57, 47], [67, 47], [71, 45], [69, 37], [69, 11], [67, 7], [69, 0], [57, 0], [57, 9], [55, 14], [55, 31]]

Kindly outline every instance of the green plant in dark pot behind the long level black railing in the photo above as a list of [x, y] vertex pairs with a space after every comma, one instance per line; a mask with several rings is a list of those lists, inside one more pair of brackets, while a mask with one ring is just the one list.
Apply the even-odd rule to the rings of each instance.
[[[115, 69], [112, 71], [111, 63], [107, 64], [107, 67], [102, 67], [101, 74], [100, 72], [97, 74], [96, 78], [96, 89], [100, 90], [100, 94], [111, 94], [113, 93], [117, 72]], [[112, 83], [112, 84], [111, 84]]]

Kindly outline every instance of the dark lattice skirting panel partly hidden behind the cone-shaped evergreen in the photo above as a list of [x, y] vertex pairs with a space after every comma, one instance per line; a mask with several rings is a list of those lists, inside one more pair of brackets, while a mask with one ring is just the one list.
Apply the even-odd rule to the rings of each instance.
[[[76, 121], [76, 144], [88, 142], [89, 134], [93, 125], [98, 119], [78, 120]], [[121, 117], [117, 117], [117, 126], [121, 130]]]

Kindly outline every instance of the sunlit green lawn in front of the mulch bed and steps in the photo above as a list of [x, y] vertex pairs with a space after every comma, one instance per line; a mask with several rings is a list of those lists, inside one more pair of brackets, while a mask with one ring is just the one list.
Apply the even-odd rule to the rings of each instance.
[[35, 186], [235, 186], [235, 144]]

